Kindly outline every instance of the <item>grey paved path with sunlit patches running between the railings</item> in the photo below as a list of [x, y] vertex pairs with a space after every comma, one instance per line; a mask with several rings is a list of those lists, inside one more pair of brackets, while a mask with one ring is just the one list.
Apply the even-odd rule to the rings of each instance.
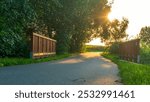
[[5, 85], [115, 85], [118, 68], [99, 53], [84, 53], [64, 60], [0, 68]]

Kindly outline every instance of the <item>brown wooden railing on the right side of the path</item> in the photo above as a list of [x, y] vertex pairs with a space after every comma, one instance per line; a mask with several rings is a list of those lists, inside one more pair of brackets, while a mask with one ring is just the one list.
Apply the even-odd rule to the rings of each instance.
[[123, 42], [119, 45], [121, 59], [140, 62], [140, 39]]

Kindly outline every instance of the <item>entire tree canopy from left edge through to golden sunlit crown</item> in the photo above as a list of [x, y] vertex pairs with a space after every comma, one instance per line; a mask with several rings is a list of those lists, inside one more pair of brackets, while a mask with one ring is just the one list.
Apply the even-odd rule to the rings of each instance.
[[107, 0], [1, 0], [0, 5], [1, 57], [24, 56], [28, 29], [56, 39], [62, 54], [81, 52], [93, 37], [117, 41], [128, 22], [109, 22]]

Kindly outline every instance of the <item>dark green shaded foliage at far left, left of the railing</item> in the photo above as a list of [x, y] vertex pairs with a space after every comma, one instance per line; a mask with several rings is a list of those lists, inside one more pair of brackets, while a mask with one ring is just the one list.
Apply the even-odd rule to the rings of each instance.
[[35, 20], [33, 9], [28, 0], [2, 0], [0, 5], [0, 57], [26, 56], [25, 30]]

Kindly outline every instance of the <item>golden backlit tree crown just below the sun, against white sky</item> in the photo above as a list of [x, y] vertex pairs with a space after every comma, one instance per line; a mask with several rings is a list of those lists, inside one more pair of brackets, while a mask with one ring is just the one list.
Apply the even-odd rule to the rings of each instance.
[[123, 18], [122, 21], [117, 19], [108, 21], [107, 26], [103, 26], [103, 32], [100, 35], [101, 39], [108, 45], [114, 42], [121, 42], [121, 40], [127, 36], [126, 29], [128, 23], [126, 18]]

